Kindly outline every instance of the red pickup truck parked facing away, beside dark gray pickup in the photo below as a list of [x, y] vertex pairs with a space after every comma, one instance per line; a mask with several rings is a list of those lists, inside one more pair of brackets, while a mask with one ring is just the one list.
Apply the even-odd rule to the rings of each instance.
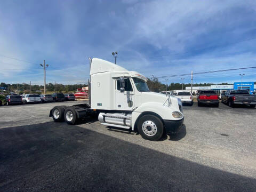
[[219, 107], [218, 94], [213, 90], [202, 90], [198, 92], [197, 105], [202, 106], [202, 104], [211, 104]]

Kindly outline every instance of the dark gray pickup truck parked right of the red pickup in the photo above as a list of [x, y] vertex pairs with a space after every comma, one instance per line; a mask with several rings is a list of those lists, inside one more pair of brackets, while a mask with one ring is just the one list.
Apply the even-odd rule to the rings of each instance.
[[229, 107], [234, 105], [250, 105], [254, 108], [256, 105], [256, 95], [250, 94], [247, 90], [228, 90], [222, 96], [222, 102], [226, 103]]

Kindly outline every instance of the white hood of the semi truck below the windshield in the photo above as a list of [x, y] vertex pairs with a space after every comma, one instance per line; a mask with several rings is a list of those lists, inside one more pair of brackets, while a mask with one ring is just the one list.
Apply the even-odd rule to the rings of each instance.
[[[141, 92], [141, 103], [145, 102], [159, 102], [162, 105], [168, 99], [168, 96], [162, 93], [155, 93], [155, 92]], [[171, 102], [178, 102], [177, 98], [170, 96]]]

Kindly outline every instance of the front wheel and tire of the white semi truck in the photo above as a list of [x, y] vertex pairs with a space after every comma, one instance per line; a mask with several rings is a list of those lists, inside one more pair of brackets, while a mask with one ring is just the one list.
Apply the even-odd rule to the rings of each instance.
[[150, 141], [159, 140], [164, 133], [163, 122], [154, 115], [143, 115], [140, 117], [137, 129], [143, 139]]

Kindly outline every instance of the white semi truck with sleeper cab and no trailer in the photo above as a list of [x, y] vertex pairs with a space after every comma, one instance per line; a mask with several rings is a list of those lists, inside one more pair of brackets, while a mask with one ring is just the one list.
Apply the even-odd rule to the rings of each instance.
[[89, 60], [89, 105], [56, 106], [49, 115], [55, 122], [75, 124], [97, 114], [102, 125], [137, 130], [152, 141], [179, 132], [184, 119], [180, 99], [150, 92], [147, 78], [136, 71], [102, 59]]

